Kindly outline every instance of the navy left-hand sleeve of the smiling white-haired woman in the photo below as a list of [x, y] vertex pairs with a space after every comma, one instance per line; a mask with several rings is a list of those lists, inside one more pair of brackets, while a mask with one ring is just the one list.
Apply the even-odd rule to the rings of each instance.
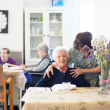
[[48, 87], [49, 81], [52, 79], [51, 72], [49, 73], [50, 78], [46, 75], [45, 78], [41, 78], [40, 81], [37, 82], [36, 87]]

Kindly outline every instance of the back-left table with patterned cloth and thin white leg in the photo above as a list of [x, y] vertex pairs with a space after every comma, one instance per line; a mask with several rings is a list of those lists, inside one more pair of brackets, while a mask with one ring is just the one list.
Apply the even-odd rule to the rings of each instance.
[[[27, 81], [23, 70], [4, 69], [3, 72], [4, 72], [4, 77], [5, 78], [12, 77], [13, 85], [20, 89], [20, 102], [21, 102], [22, 90], [24, 90]], [[21, 110], [21, 103], [19, 108]]]

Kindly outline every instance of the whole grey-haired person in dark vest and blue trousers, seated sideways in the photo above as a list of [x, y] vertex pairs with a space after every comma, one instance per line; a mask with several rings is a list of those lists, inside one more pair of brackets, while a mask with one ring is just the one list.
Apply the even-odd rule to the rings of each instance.
[[40, 43], [37, 48], [38, 48], [38, 55], [40, 56], [42, 60], [38, 64], [34, 64], [34, 65], [23, 65], [22, 64], [20, 66], [22, 70], [26, 71], [25, 73], [25, 76], [27, 78], [26, 86], [28, 86], [30, 82], [32, 83], [31, 86], [35, 86], [36, 80], [38, 79], [38, 75], [37, 76], [36, 74], [30, 75], [31, 73], [38, 73], [38, 72], [44, 73], [47, 67], [52, 63], [52, 59], [50, 58], [48, 54], [48, 50], [49, 50], [48, 46], [45, 43]]

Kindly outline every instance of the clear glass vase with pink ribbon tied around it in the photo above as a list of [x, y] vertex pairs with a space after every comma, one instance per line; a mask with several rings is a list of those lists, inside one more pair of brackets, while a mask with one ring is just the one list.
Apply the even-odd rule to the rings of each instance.
[[101, 63], [101, 80], [99, 82], [100, 89], [98, 90], [99, 94], [109, 94], [109, 63]]

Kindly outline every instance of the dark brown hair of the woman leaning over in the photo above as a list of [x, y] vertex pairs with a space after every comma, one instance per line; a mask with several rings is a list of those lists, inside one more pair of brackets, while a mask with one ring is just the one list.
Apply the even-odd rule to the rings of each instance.
[[73, 47], [78, 50], [79, 46], [83, 48], [85, 45], [87, 45], [90, 49], [92, 49], [91, 40], [92, 34], [90, 32], [78, 33], [74, 40]]

